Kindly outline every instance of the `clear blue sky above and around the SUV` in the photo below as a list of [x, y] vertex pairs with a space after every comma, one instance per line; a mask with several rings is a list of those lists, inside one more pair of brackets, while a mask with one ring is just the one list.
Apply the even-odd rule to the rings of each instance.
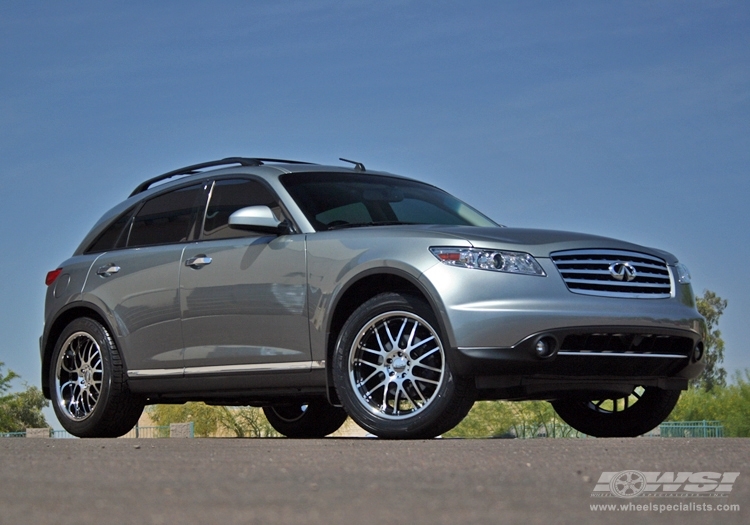
[[39, 384], [46, 272], [142, 180], [230, 155], [669, 250], [750, 368], [746, 1], [3, 2], [0, 361]]

